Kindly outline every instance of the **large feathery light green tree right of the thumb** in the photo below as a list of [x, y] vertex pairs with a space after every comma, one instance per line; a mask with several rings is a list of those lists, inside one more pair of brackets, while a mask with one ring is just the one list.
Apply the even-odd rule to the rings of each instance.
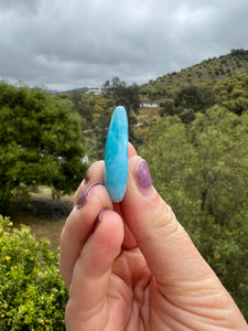
[[248, 318], [248, 130], [219, 107], [162, 117], [140, 153], [154, 186]]

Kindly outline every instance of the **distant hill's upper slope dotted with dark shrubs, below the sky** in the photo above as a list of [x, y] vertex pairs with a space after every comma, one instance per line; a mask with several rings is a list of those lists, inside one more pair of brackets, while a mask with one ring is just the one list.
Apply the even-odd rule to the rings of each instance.
[[140, 86], [141, 94], [150, 98], [173, 95], [187, 85], [212, 87], [217, 81], [248, 72], [248, 51], [231, 50], [227, 55], [205, 60], [200, 64], [173, 72]]

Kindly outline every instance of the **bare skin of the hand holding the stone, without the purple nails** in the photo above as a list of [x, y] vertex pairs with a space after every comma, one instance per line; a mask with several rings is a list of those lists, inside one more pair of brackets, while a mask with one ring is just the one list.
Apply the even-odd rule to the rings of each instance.
[[[69, 291], [66, 329], [248, 330], [171, 207], [153, 186], [139, 185], [141, 158], [131, 145], [129, 158], [121, 203], [112, 204], [104, 186], [104, 161], [90, 167], [89, 180], [75, 194], [61, 236], [61, 273]], [[77, 209], [93, 183], [99, 184]]]

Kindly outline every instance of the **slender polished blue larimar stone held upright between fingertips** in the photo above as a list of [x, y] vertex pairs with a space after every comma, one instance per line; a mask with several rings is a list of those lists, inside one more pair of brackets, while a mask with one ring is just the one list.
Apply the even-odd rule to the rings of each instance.
[[105, 147], [105, 185], [114, 202], [120, 202], [128, 178], [128, 118], [126, 109], [117, 107], [108, 129]]

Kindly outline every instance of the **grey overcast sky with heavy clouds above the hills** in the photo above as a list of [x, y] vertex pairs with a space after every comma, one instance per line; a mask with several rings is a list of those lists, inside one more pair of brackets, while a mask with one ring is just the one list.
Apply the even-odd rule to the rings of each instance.
[[247, 0], [0, 0], [0, 79], [147, 83], [248, 49]]

